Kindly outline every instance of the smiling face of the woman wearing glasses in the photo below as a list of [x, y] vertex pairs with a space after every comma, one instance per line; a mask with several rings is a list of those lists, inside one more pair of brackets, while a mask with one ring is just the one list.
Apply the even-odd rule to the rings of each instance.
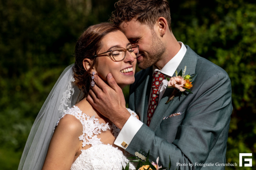
[[[131, 43], [121, 31], [108, 33], [101, 40], [101, 44], [102, 48], [97, 54], [101, 54], [118, 47], [128, 48], [129, 46], [131, 46]], [[126, 85], [134, 83], [134, 73], [136, 67], [136, 59], [134, 57], [136, 55], [133, 52], [131, 53], [129, 51], [126, 51], [124, 60], [115, 62], [108, 54], [110, 53], [98, 56], [98, 64], [95, 72], [100, 76], [100, 78], [106, 81], [108, 73], [111, 73], [113, 78], [115, 78], [116, 83], [121, 88], [124, 88]], [[127, 69], [128, 72], [126, 70], [124, 73], [124, 69]]]

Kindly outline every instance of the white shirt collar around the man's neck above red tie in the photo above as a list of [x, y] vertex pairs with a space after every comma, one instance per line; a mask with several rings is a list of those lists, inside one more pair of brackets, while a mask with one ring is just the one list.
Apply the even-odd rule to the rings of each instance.
[[164, 65], [162, 70], [158, 70], [155, 64], [153, 65], [153, 75], [154, 72], [159, 71], [167, 76], [172, 77], [187, 52], [185, 45], [182, 42], [179, 42], [179, 44], [181, 45], [180, 51], [168, 63]]

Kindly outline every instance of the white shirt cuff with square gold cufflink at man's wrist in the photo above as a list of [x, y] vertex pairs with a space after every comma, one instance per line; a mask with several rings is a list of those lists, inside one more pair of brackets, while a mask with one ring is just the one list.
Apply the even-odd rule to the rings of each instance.
[[[119, 132], [119, 135], [116, 137], [114, 144], [126, 149], [142, 125], [143, 122], [140, 122], [139, 119], [131, 115]], [[123, 142], [126, 143], [126, 145]]]

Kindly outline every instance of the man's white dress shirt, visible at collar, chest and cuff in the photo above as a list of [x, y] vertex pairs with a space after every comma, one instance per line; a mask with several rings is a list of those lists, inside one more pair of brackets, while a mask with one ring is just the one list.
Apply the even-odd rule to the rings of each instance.
[[[167, 78], [171, 78], [172, 75], [175, 73], [175, 70], [178, 68], [181, 60], [183, 59], [184, 55], [186, 54], [187, 48], [182, 42], [179, 42], [181, 48], [179, 52], [168, 62], [164, 65], [164, 67], [161, 70], [158, 70], [155, 65], [153, 65], [153, 73], [154, 75], [155, 71], [159, 71], [167, 76]], [[152, 81], [152, 80], [151, 80]], [[165, 78], [162, 83], [159, 86], [159, 101], [161, 100], [166, 87], [167, 87], [167, 79]], [[150, 95], [152, 92], [152, 88], [150, 90]], [[148, 101], [149, 105], [150, 100]], [[143, 117], [140, 118], [143, 120]], [[139, 131], [140, 127], [143, 125], [143, 122], [138, 120], [134, 116], [130, 116], [127, 122], [125, 122], [124, 127], [120, 131], [119, 135], [117, 136], [114, 144], [126, 149], [126, 147], [131, 143], [132, 138], [136, 135], [136, 133]], [[125, 142], [127, 145], [126, 147], [122, 146], [121, 144]]]

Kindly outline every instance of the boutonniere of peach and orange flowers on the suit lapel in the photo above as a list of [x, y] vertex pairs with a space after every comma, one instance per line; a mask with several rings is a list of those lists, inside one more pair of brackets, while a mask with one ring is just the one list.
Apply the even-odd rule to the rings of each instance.
[[[175, 77], [172, 78], [166, 78], [168, 80], [167, 88], [175, 88], [172, 94], [169, 96], [168, 100], [165, 102], [165, 104], [168, 104], [170, 101], [173, 100], [175, 96], [181, 96], [181, 94], [184, 96], [184, 92], [192, 93], [189, 89], [193, 86], [191, 82], [192, 78], [196, 76], [190, 76], [189, 74], [186, 75], [186, 69], [187, 66], [185, 66], [184, 70], [180, 70], [179, 74], [177, 70], [175, 71]], [[180, 95], [178, 95], [180, 93]]]

